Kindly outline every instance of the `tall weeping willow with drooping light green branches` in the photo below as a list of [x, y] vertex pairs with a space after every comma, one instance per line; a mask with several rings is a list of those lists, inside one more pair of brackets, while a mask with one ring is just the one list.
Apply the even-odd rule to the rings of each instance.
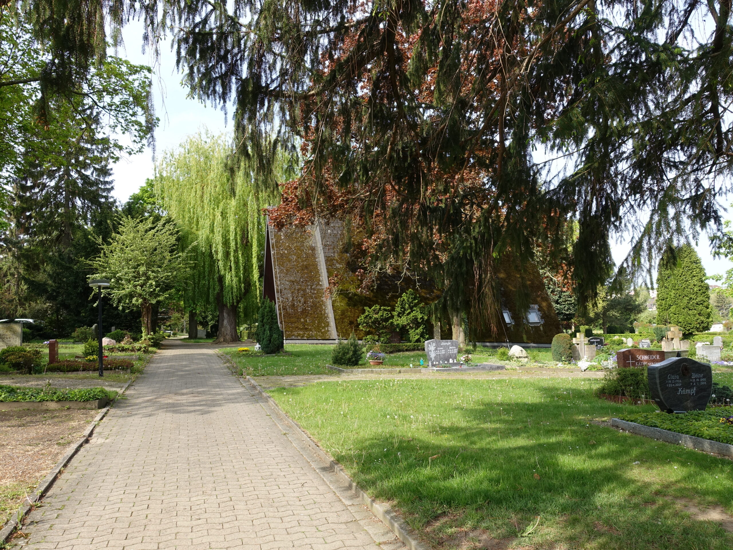
[[[278, 155], [277, 145], [271, 144]], [[177, 222], [183, 246], [193, 252], [187, 309], [218, 309], [216, 342], [237, 342], [237, 319], [257, 311], [259, 263], [265, 246], [262, 208], [275, 204], [273, 180], [287, 175], [279, 154], [277, 172], [261, 172], [246, 155], [230, 164], [225, 136], [191, 136], [163, 155], [155, 193]]]

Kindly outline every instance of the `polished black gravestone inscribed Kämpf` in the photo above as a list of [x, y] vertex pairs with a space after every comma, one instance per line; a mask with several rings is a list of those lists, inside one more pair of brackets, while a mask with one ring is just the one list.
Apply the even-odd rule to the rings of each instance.
[[652, 399], [662, 411], [704, 411], [712, 395], [712, 368], [689, 357], [673, 357], [647, 367]]

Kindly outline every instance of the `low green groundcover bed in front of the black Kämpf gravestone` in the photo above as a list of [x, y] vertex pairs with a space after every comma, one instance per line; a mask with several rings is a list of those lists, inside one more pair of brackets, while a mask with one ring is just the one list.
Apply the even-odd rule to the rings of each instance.
[[733, 444], [733, 425], [721, 422], [721, 418], [729, 417], [732, 413], [731, 408], [721, 407], [707, 409], [707, 411], [689, 411], [685, 414], [624, 414], [619, 418], [651, 428], [661, 428], [672, 432], [685, 433], [688, 436]]

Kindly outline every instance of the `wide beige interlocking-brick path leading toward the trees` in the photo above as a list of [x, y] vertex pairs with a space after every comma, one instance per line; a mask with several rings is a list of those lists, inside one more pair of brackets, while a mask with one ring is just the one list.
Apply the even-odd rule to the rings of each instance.
[[336, 496], [212, 349], [171, 344], [127, 396], [31, 514], [29, 538], [16, 542], [73, 550], [379, 548], [373, 529], [364, 529], [377, 520]]

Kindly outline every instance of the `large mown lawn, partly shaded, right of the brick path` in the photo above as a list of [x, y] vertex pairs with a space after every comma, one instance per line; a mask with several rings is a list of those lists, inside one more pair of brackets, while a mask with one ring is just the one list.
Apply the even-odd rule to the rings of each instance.
[[732, 462], [595, 424], [654, 410], [598, 400], [596, 384], [339, 380], [270, 395], [436, 547], [471, 547], [457, 542], [468, 533], [526, 549], [733, 548], [676, 502], [732, 511]]

